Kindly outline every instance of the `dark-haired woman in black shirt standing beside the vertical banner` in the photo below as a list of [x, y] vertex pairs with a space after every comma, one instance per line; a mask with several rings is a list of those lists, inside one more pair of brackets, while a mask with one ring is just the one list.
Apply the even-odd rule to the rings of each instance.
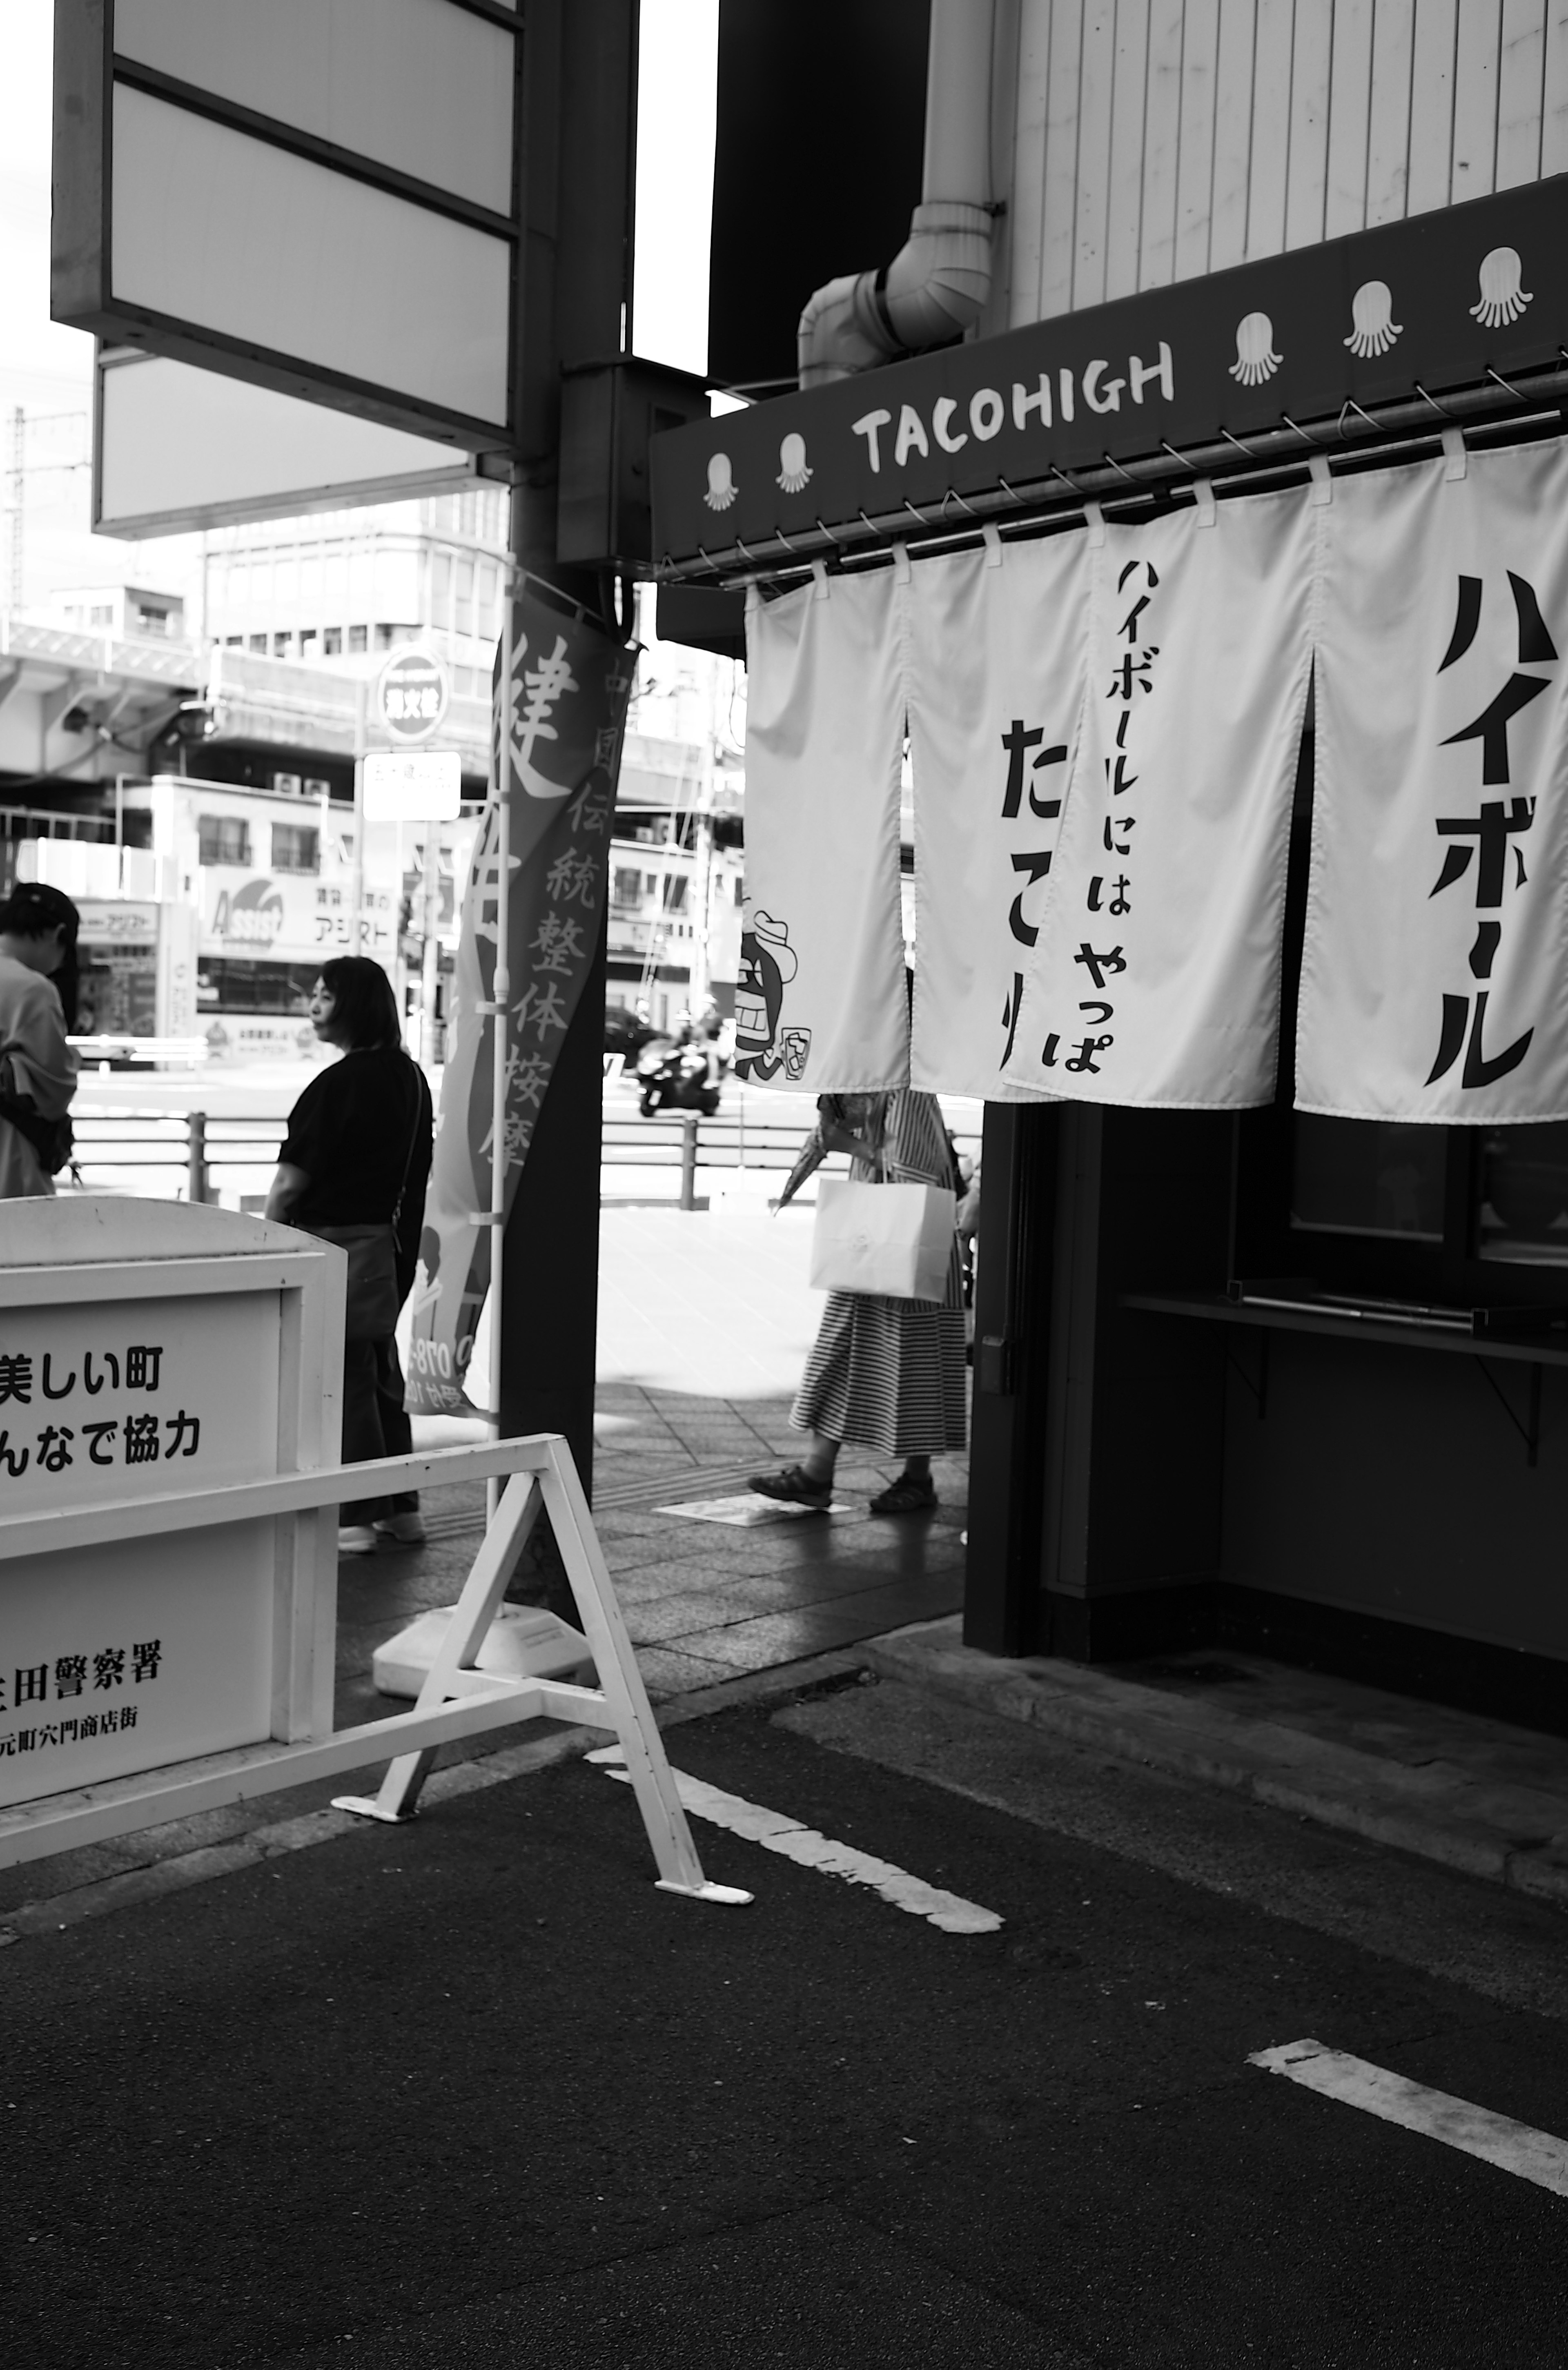
[[[268, 1218], [306, 1232], [391, 1225], [398, 1306], [415, 1282], [424, 1187], [431, 1173], [431, 1090], [403, 1052], [398, 1003], [379, 962], [339, 955], [310, 991], [310, 1026], [343, 1059], [320, 1071], [289, 1112]], [[343, 1344], [343, 1462], [405, 1455], [403, 1367], [391, 1337]], [[424, 1538], [419, 1498], [362, 1498], [341, 1507], [339, 1555], [369, 1555], [377, 1531]]]

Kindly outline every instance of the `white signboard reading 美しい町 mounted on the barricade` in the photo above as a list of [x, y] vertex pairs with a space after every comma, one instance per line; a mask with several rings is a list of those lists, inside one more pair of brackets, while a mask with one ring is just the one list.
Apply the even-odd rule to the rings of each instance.
[[[220, 1230], [239, 1256], [204, 1258]], [[38, 1235], [57, 1266], [26, 1258]], [[116, 1533], [147, 1500], [287, 1469], [289, 1405], [324, 1431], [322, 1410], [301, 1413], [284, 1318], [284, 1285], [324, 1261], [277, 1249], [294, 1242], [223, 1211], [17, 1206], [0, 1275], [0, 1808], [275, 1732], [277, 1522]], [[50, 1552], [50, 1517], [95, 1507], [114, 1510], [111, 1533]], [[9, 1524], [31, 1526], [26, 1550]]]

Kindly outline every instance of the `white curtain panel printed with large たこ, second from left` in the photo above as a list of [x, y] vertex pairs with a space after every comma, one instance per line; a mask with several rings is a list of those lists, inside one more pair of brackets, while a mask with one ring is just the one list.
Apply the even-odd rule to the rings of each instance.
[[1007, 1100], [1085, 694], [1082, 533], [921, 559], [910, 609], [914, 1085]]

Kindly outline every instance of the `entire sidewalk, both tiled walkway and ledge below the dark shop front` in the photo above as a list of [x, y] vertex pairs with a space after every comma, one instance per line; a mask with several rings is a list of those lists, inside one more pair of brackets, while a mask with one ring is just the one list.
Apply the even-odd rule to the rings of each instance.
[[[841, 1460], [846, 1510], [831, 1517], [741, 1529], [670, 1512], [744, 1495], [748, 1472], [798, 1453], [789, 1398], [822, 1306], [803, 1273], [805, 1223], [791, 1213], [604, 1213], [595, 1522], [661, 1721], [860, 1664], [1568, 1908], [1568, 1740], [1229, 1650], [1113, 1671], [966, 1650], [964, 1458], [936, 1462], [940, 1507], [924, 1517], [869, 1517], [898, 1460], [860, 1450]], [[455, 1602], [483, 1491], [429, 1493], [426, 1524], [426, 1548], [339, 1569], [341, 1728], [400, 1709], [377, 1695], [372, 1654]], [[450, 1747], [426, 1801], [583, 1742], [526, 1723]], [[348, 1825], [329, 1808], [341, 1789], [341, 1778], [298, 1787], [5, 1870], [0, 1941], [324, 1841]]]

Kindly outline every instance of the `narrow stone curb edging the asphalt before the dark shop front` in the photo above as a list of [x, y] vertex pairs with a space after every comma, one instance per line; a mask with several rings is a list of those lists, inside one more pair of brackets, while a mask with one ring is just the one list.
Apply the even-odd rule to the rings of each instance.
[[1459, 1761], [1407, 1768], [1279, 1721], [1248, 1721], [1220, 1704], [1111, 1678], [1090, 1664], [997, 1661], [962, 1645], [957, 1619], [891, 1631], [867, 1640], [860, 1654], [879, 1678], [1568, 1908], [1568, 1794], [1476, 1778]]

